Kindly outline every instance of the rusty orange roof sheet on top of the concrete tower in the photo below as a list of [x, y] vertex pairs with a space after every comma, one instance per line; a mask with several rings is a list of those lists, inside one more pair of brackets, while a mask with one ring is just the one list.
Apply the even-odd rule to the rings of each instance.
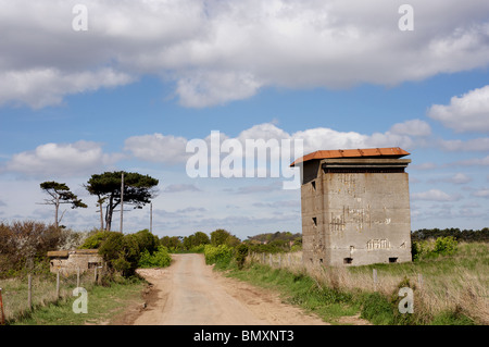
[[301, 162], [310, 160], [321, 160], [329, 158], [377, 158], [377, 157], [401, 158], [409, 154], [410, 154], [409, 152], [399, 147], [317, 150], [302, 158], [299, 158], [293, 163], [291, 163], [290, 166], [294, 166]]

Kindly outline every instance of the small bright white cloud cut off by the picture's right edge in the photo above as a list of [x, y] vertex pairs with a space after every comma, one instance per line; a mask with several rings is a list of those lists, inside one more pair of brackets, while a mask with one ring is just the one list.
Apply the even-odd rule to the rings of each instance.
[[428, 115], [457, 133], [489, 132], [489, 86], [452, 97], [448, 106], [434, 104]]

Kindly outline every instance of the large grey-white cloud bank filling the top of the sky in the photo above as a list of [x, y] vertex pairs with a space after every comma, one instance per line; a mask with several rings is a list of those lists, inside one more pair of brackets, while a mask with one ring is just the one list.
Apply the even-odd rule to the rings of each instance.
[[[410, 33], [398, 28], [402, 1], [391, 0], [86, 0], [88, 30], [75, 32], [77, 2], [0, 0], [0, 76], [14, 82], [1, 103], [58, 104], [155, 75], [183, 106], [201, 108], [264, 87], [391, 86], [487, 66], [489, 57], [485, 0], [412, 0]], [[32, 87], [40, 80], [46, 90]]]

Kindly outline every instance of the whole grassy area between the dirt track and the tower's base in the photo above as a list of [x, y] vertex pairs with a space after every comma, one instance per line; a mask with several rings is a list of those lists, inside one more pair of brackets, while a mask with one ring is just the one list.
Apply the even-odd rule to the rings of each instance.
[[[333, 324], [359, 312], [379, 325], [486, 325], [489, 322], [489, 244], [462, 243], [450, 256], [396, 264], [305, 270], [233, 261], [216, 262], [228, 276], [278, 290], [283, 300], [318, 314]], [[377, 292], [372, 272], [377, 270]], [[423, 275], [419, 282], [418, 274]], [[414, 313], [401, 314], [399, 288], [414, 290]]]

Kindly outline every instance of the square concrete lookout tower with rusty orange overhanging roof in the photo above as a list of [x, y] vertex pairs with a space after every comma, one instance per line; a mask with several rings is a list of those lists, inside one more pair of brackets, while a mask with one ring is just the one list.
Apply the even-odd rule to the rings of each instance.
[[302, 166], [303, 261], [411, 261], [410, 154], [401, 148], [319, 150]]

